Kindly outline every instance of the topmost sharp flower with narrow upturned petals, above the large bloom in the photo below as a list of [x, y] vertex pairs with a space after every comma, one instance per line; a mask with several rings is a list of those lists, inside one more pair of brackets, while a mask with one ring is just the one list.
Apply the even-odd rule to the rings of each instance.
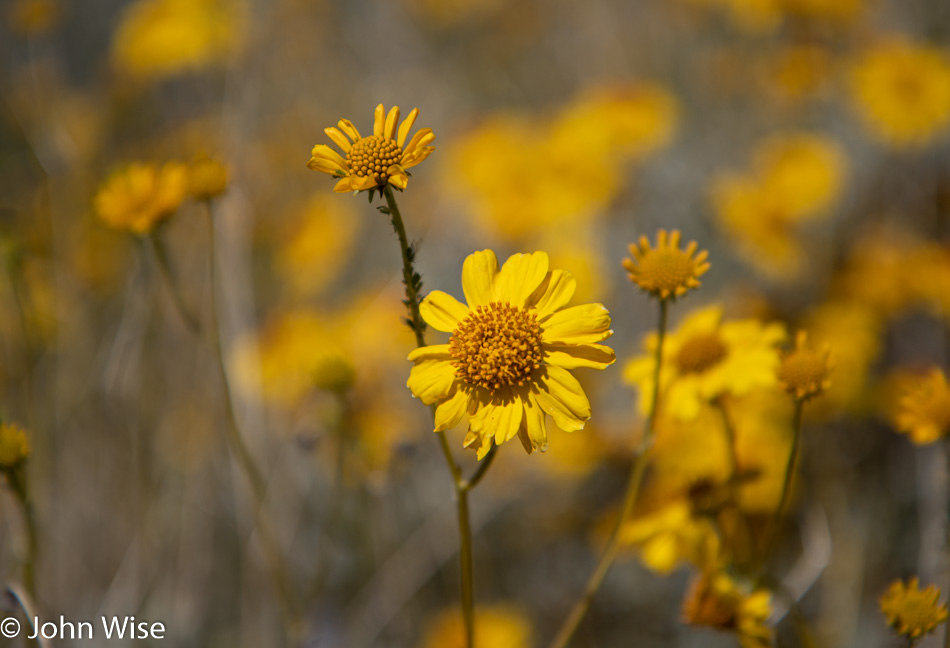
[[343, 149], [346, 157], [326, 144], [317, 144], [313, 147], [307, 166], [340, 178], [333, 187], [339, 193], [377, 187], [382, 189], [387, 184], [405, 189], [409, 181], [406, 170], [422, 162], [435, 150], [435, 147], [429, 146], [435, 140], [431, 128], [417, 131], [412, 139], [406, 141], [418, 115], [419, 109], [413, 108], [397, 133], [399, 106], [393, 106], [387, 114], [383, 104], [379, 104], [373, 120], [373, 134], [367, 137], [361, 136], [349, 120], [341, 119], [337, 124], [339, 128], [325, 128], [323, 132]]

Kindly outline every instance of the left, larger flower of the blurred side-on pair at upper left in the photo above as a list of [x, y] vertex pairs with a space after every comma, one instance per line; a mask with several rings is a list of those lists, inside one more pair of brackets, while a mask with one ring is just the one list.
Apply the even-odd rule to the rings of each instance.
[[147, 234], [175, 213], [185, 199], [188, 169], [179, 162], [162, 168], [133, 163], [113, 173], [99, 189], [95, 208], [110, 227]]

